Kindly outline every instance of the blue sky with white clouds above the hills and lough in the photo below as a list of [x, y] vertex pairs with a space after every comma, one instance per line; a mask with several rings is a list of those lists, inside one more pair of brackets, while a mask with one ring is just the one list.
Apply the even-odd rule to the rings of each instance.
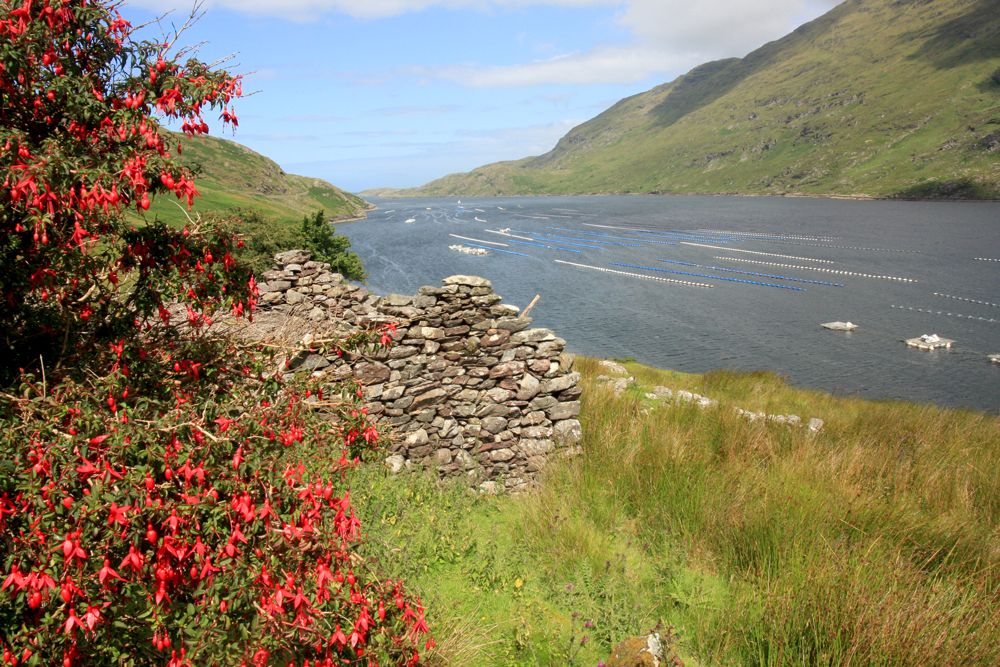
[[[618, 100], [740, 57], [837, 0], [206, 0], [179, 43], [245, 76], [222, 134], [346, 190], [539, 155]], [[126, 0], [139, 35], [193, 0]], [[227, 60], [228, 59], [228, 60]]]

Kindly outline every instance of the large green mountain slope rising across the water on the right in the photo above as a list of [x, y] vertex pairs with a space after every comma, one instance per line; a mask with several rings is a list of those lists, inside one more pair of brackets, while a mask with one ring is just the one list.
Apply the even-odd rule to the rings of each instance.
[[545, 155], [406, 194], [1000, 197], [1000, 0], [848, 0]]

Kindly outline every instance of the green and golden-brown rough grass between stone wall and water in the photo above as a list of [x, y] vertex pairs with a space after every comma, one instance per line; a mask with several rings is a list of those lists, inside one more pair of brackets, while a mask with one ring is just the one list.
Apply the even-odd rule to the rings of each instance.
[[1000, 664], [996, 417], [632, 362], [616, 397], [577, 365], [584, 453], [536, 491], [363, 472], [370, 548], [423, 596], [437, 663], [595, 665], [662, 622], [689, 665]]

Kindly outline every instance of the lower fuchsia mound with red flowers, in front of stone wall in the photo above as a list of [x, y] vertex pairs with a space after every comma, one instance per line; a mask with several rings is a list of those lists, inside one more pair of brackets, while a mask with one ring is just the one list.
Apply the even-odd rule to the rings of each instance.
[[419, 600], [354, 555], [346, 475], [379, 438], [360, 392], [285, 385], [231, 343], [146, 342], [8, 396], [5, 663], [415, 664]]

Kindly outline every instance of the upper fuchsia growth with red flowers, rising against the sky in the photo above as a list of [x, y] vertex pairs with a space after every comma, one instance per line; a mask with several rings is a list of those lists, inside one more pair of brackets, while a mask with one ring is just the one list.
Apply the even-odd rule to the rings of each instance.
[[133, 40], [115, 4], [0, 3], [0, 335], [15, 368], [125, 335], [167, 301], [252, 305], [231, 240], [123, 215], [157, 193], [193, 201], [191, 174], [174, 158], [181, 147], [151, 114], [189, 135], [208, 131], [210, 109], [235, 124], [239, 77], [178, 64], [172, 41]]

